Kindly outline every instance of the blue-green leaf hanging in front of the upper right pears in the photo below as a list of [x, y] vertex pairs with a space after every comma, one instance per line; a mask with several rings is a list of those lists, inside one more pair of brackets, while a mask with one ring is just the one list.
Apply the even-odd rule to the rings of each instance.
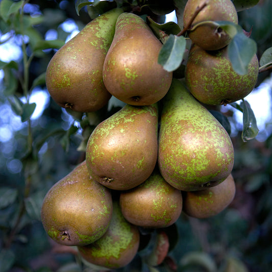
[[239, 75], [248, 73], [248, 66], [257, 52], [257, 44], [254, 40], [246, 37], [242, 29], [233, 37], [228, 45], [228, 56], [233, 69]]

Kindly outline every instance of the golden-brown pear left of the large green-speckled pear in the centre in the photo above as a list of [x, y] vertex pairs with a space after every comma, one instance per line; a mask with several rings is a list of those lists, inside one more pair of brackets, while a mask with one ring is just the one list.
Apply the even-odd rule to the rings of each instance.
[[152, 174], [158, 151], [158, 107], [125, 105], [102, 121], [86, 147], [89, 173], [114, 190], [128, 190]]

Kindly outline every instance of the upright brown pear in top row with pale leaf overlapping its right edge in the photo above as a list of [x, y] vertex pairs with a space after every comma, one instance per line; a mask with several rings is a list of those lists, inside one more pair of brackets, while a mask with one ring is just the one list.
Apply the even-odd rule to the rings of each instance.
[[141, 17], [122, 13], [103, 67], [107, 90], [130, 105], [145, 106], [161, 100], [172, 79], [172, 72], [158, 64], [161, 47]]

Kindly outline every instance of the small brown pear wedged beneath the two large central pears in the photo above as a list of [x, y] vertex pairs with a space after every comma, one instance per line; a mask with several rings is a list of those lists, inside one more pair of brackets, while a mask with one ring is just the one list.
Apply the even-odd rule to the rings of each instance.
[[120, 193], [120, 207], [123, 216], [136, 226], [165, 228], [179, 218], [182, 194], [155, 169], [144, 183]]

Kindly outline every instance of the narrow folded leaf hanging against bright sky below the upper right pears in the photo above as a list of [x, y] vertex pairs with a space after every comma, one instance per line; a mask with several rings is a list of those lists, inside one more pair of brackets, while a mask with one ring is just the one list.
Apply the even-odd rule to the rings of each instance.
[[250, 104], [243, 100], [241, 103], [243, 109], [243, 131], [242, 131], [242, 140], [244, 142], [254, 139], [259, 132], [257, 127], [256, 118], [253, 110], [250, 107]]

